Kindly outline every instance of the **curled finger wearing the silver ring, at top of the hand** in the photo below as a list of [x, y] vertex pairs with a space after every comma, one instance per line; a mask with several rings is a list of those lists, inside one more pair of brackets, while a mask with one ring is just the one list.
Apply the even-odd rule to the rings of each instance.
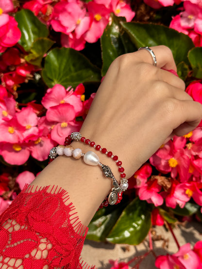
[[[177, 67], [173, 59], [172, 52], [168, 47], [156, 46], [150, 48], [152, 49], [156, 57], [157, 67], [164, 68], [166, 70], [172, 69], [177, 72]], [[138, 53], [139, 57], [141, 58], [141, 61], [153, 64], [152, 55], [146, 49], [138, 50], [136, 53]]]

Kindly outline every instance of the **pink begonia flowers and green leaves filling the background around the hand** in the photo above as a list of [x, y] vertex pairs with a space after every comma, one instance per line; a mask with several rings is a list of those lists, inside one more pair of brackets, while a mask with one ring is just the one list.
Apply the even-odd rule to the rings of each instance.
[[[201, 1], [0, 0], [0, 212], [48, 164], [50, 149], [80, 129], [112, 61], [157, 45], [172, 50], [187, 93], [202, 103]], [[201, 206], [202, 123], [162, 145], [123, 202], [96, 213], [87, 238], [137, 245], [152, 224], [201, 222]], [[202, 242], [183, 253], [156, 266], [202, 268]]]

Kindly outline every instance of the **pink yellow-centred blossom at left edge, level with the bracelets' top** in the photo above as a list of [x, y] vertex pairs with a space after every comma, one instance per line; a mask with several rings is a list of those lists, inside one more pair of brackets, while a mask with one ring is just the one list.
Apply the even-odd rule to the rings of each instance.
[[0, 123], [0, 142], [17, 143], [23, 141], [25, 127], [21, 126], [16, 117]]

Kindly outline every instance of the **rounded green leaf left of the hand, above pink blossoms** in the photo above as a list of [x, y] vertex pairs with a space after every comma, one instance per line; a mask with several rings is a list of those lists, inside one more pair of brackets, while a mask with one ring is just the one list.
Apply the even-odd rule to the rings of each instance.
[[73, 48], [54, 48], [45, 60], [42, 77], [51, 88], [61, 84], [65, 88], [79, 83], [100, 81], [100, 69]]

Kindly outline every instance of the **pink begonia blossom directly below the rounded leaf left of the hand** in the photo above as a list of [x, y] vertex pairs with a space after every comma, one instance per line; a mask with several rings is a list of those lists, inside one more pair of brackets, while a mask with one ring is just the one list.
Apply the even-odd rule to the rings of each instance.
[[[70, 88], [70, 87], [69, 87]], [[74, 107], [76, 116], [83, 114], [83, 103], [81, 96], [84, 94], [84, 85], [79, 84], [75, 91], [73, 89], [65, 89], [60, 84], [55, 84], [52, 88], [47, 90], [47, 93], [42, 98], [42, 105], [49, 109], [50, 107], [57, 106], [59, 104], [70, 104]]]

